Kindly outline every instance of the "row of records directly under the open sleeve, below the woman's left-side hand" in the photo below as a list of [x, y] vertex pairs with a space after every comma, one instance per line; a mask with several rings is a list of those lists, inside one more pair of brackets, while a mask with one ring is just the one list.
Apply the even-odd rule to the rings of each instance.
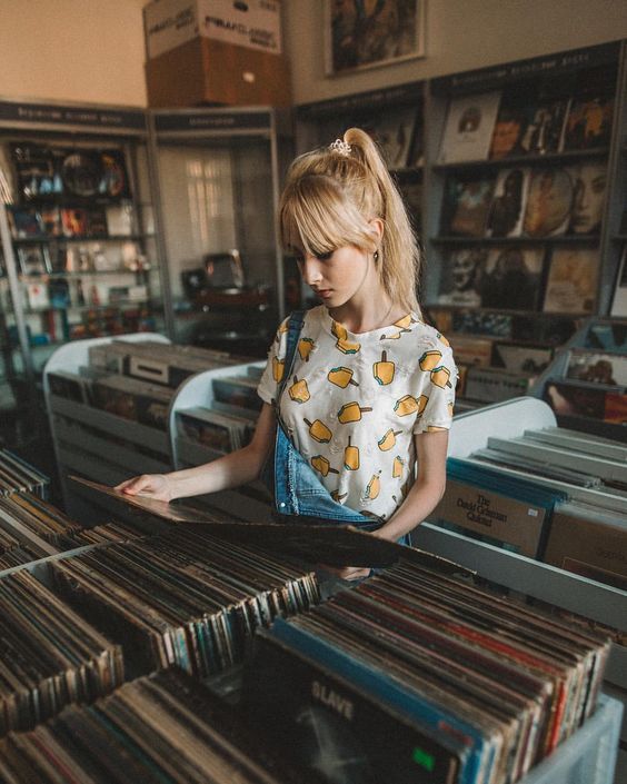
[[241, 661], [253, 631], [319, 599], [311, 572], [193, 532], [103, 545], [51, 564], [69, 601], [98, 618], [139, 673], [206, 676]]

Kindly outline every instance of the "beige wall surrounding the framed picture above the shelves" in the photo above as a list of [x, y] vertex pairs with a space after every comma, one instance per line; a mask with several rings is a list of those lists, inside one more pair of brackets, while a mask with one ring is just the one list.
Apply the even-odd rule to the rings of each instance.
[[625, 0], [426, 0], [425, 59], [328, 78], [324, 1], [283, 0], [296, 103], [627, 38]]

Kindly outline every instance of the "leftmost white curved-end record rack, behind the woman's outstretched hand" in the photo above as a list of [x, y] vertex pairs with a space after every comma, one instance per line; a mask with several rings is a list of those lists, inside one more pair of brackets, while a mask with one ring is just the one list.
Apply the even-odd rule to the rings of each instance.
[[[153, 333], [122, 337], [130, 341], [170, 343]], [[91, 338], [66, 344], [54, 351], [43, 371], [43, 394], [64, 509], [70, 517], [83, 524], [89, 524], [89, 520], [93, 523], [93, 495], [89, 495], [87, 500], [82, 488], [69, 475], [78, 474], [106, 485], [117, 485], [140, 472], [159, 474], [171, 467], [166, 431], [123, 419], [86, 403], [66, 399], [50, 390], [50, 373], [79, 376], [80, 369], [89, 365], [89, 348], [112, 339]], [[108, 507], [104, 508], [108, 510]], [[119, 514], [119, 505], [113, 509]]]

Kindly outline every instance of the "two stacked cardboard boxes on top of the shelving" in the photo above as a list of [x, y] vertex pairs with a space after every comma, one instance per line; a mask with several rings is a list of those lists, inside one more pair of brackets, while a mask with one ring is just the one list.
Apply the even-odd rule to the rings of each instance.
[[150, 107], [290, 106], [277, 0], [156, 0], [143, 21]]

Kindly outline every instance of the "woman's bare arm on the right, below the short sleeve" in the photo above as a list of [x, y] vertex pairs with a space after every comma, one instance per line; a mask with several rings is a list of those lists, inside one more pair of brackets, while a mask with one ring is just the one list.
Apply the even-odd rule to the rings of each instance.
[[446, 487], [448, 430], [414, 436], [418, 476], [407, 498], [376, 536], [395, 542], [416, 528], [438, 505]]

